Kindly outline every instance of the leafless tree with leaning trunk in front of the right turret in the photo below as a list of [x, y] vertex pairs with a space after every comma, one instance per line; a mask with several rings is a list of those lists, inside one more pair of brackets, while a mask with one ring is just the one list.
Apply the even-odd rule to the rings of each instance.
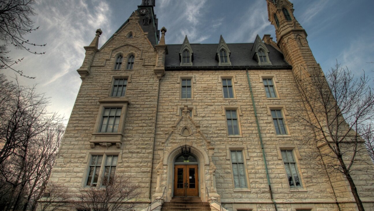
[[318, 152], [323, 165], [328, 173], [344, 175], [358, 209], [363, 211], [352, 172], [373, 174], [373, 162], [364, 145], [365, 137], [373, 141], [374, 134], [374, 127], [370, 127], [374, 120], [370, 79], [365, 74], [355, 79], [351, 71], [341, 68], [338, 63], [326, 77], [320, 69], [310, 74], [310, 77], [295, 80], [300, 103], [304, 105], [299, 107], [301, 110], [292, 112], [293, 123], [306, 128], [304, 143], [325, 147]]

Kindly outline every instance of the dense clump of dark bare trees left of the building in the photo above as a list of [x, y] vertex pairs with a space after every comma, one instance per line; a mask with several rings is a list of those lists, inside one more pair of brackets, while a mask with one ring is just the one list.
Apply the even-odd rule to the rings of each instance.
[[36, 93], [35, 87], [9, 83], [2, 74], [0, 78], [0, 87], [8, 87], [0, 93], [6, 104], [0, 109], [0, 207], [34, 210], [45, 190], [64, 126], [58, 115], [46, 111], [48, 99]]

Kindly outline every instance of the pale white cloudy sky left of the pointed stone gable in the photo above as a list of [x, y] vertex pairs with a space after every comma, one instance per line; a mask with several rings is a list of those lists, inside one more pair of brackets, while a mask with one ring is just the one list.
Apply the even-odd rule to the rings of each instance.
[[[48, 109], [68, 117], [81, 83], [76, 69], [82, 65], [85, 57], [83, 46], [91, 43], [97, 28], [110, 28], [109, 6], [99, 0], [39, 0], [34, 10], [39, 14], [34, 25], [40, 28], [27, 38], [35, 43], [47, 43], [45, 47], [33, 46], [31, 49], [45, 51], [46, 54], [14, 52], [14, 58], [25, 56], [24, 62], [19, 63], [16, 68], [36, 77], [33, 80], [18, 78], [25, 86], [37, 83], [39, 92], [46, 92], [47, 97], [52, 97]], [[102, 43], [105, 36], [101, 39]], [[13, 75], [12, 72], [6, 73]]]

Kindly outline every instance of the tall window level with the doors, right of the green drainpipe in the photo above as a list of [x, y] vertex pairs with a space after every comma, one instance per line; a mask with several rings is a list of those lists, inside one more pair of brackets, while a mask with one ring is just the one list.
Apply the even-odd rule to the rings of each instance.
[[292, 150], [281, 150], [284, 168], [287, 174], [289, 187], [302, 187], [297, 165]]

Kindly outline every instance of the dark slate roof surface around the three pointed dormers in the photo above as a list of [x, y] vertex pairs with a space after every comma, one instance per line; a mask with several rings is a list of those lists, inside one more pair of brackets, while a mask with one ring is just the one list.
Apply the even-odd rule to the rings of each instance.
[[[273, 46], [265, 44], [269, 52], [269, 59], [272, 65], [258, 65], [258, 62], [253, 58], [251, 49], [254, 43], [229, 43], [231, 66], [218, 66], [218, 61], [215, 60], [218, 44], [190, 44], [193, 50], [193, 65], [180, 66], [179, 51], [182, 44], [168, 45], [168, 54], [165, 58], [165, 70], [171, 69], [242, 69], [242, 68], [257, 68], [257, 69], [272, 69], [282, 68], [289, 69], [291, 66], [284, 60], [283, 54], [276, 50]], [[235, 68], [235, 67], [241, 68]]]

